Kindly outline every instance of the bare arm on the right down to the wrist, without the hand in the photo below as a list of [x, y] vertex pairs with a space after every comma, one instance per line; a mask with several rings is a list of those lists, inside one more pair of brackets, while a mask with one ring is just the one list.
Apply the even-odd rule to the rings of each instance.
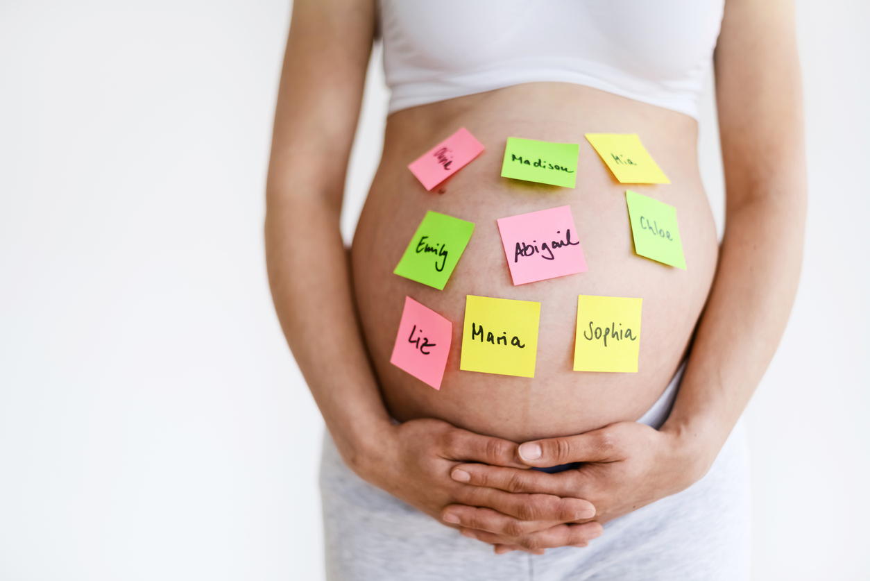
[[702, 474], [773, 358], [800, 278], [806, 162], [792, 1], [729, 0], [714, 63], [726, 231], [662, 428], [681, 436]]

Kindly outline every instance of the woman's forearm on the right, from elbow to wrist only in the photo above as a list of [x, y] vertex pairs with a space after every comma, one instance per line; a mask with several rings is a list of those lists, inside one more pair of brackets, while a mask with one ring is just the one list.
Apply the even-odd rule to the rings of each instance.
[[806, 199], [786, 195], [733, 208], [719, 270], [673, 411], [662, 427], [691, 443], [706, 472], [779, 345], [800, 278]]

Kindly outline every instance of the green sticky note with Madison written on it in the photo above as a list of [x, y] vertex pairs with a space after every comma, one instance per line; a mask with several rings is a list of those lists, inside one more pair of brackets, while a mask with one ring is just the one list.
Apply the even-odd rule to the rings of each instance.
[[577, 181], [576, 143], [550, 143], [534, 139], [507, 138], [503, 178], [525, 179], [539, 184], [574, 187]]

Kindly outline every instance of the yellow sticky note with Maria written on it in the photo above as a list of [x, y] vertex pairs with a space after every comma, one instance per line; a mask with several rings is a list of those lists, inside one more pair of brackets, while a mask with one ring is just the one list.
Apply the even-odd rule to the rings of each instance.
[[539, 302], [466, 295], [459, 368], [534, 377], [540, 313]]

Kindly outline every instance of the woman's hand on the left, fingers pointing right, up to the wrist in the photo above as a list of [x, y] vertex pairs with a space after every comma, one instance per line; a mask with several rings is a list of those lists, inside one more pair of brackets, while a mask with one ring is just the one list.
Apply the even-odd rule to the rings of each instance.
[[[495, 510], [509, 523], [519, 537], [537, 530], [572, 521], [592, 518], [592, 503], [579, 498], [556, 497], [549, 494], [512, 493], [495, 488], [458, 483], [451, 471], [462, 463], [477, 462], [528, 470], [519, 457], [519, 445], [490, 436], [481, 436], [435, 419], [411, 420], [385, 429], [365, 457], [358, 458], [355, 470], [367, 482], [386, 490], [394, 497], [438, 520], [458, 528], [456, 523], [442, 519], [442, 510], [450, 504], [484, 507]], [[599, 537], [601, 525], [585, 525], [584, 546]], [[512, 543], [511, 537], [499, 537], [507, 549], [542, 554], [543, 550], [527, 550]]]

